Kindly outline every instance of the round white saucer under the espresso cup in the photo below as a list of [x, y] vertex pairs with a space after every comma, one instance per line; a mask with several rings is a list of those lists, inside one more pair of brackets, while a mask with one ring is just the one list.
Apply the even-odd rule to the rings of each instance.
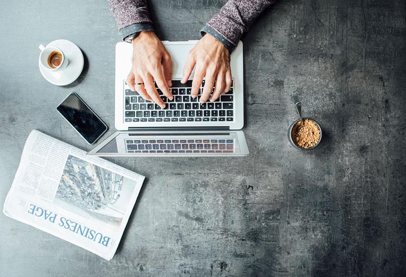
[[69, 85], [78, 79], [85, 63], [82, 51], [80, 51], [79, 47], [67, 40], [56, 40], [48, 45], [58, 47], [62, 50], [65, 57], [69, 60], [69, 64], [63, 70], [55, 72], [47, 70], [41, 62], [39, 62], [42, 76], [44, 76], [48, 82], [57, 86]]

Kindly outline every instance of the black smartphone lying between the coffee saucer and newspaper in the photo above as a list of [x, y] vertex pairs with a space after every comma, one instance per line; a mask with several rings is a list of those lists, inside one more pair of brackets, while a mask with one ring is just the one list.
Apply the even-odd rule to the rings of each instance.
[[76, 93], [67, 95], [56, 110], [88, 144], [94, 144], [108, 129]]

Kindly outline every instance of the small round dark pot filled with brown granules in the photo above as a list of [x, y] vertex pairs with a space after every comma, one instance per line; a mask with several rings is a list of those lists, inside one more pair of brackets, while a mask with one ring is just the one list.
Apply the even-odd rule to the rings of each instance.
[[320, 140], [320, 129], [317, 124], [310, 119], [303, 120], [303, 126], [298, 121], [293, 126], [292, 138], [298, 147], [307, 149], [314, 147]]

